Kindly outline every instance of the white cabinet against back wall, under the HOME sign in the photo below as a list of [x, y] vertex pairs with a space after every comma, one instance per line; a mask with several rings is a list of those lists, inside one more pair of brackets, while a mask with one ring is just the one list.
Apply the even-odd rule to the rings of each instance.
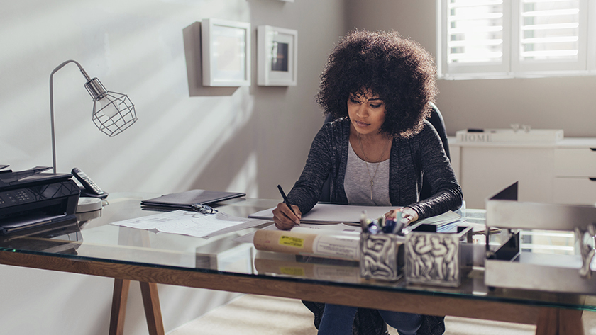
[[468, 208], [519, 181], [519, 200], [596, 203], [596, 138], [558, 142], [458, 142], [449, 138], [451, 164]]

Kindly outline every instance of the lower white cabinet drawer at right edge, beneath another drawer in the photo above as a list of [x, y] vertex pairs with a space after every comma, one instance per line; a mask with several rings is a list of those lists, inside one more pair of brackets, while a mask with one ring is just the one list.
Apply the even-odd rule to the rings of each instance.
[[561, 178], [553, 183], [555, 203], [575, 205], [596, 204], [596, 178]]

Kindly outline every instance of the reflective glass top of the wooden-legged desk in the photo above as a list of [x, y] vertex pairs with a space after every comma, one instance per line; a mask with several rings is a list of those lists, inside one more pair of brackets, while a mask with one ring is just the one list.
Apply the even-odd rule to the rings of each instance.
[[[53, 227], [0, 236], [0, 251], [134, 264], [148, 268], [231, 273], [250, 278], [277, 278], [287, 282], [338, 288], [370, 288], [468, 300], [596, 310], [596, 296], [593, 295], [488, 288], [484, 284], [482, 268], [471, 271], [458, 288], [408, 285], [403, 277], [395, 282], [360, 278], [356, 262], [257, 251], [251, 243], [234, 240], [268, 224], [209, 239], [110, 225], [110, 222], [156, 214], [155, 211], [140, 208], [140, 200], [153, 197], [155, 194], [112, 193], [102, 210], [82, 213], [78, 215], [77, 222], [62, 222]], [[272, 208], [278, 202], [279, 200], [237, 198], [223, 201], [214, 207], [221, 212], [247, 217], [254, 212]], [[465, 211], [463, 216], [476, 224], [482, 224], [484, 220], [483, 212], [478, 210]]]

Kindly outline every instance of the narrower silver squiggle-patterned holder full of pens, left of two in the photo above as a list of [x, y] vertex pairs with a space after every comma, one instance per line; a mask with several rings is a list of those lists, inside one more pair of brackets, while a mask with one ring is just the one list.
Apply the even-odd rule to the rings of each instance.
[[360, 276], [381, 280], [398, 280], [399, 246], [395, 234], [360, 234]]

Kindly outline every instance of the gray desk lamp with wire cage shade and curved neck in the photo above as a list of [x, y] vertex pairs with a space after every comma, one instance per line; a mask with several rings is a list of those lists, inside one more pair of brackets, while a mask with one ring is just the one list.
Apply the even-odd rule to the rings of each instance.
[[81, 64], [74, 60], [67, 60], [58, 65], [50, 74], [50, 118], [52, 123], [52, 159], [54, 173], [56, 173], [56, 138], [54, 134], [54, 90], [53, 76], [68, 63], [75, 63], [87, 79], [85, 89], [93, 99], [92, 121], [96, 127], [109, 137], [114, 137], [136, 122], [135, 106], [126, 94], [106, 90], [99, 79], [91, 79]]

